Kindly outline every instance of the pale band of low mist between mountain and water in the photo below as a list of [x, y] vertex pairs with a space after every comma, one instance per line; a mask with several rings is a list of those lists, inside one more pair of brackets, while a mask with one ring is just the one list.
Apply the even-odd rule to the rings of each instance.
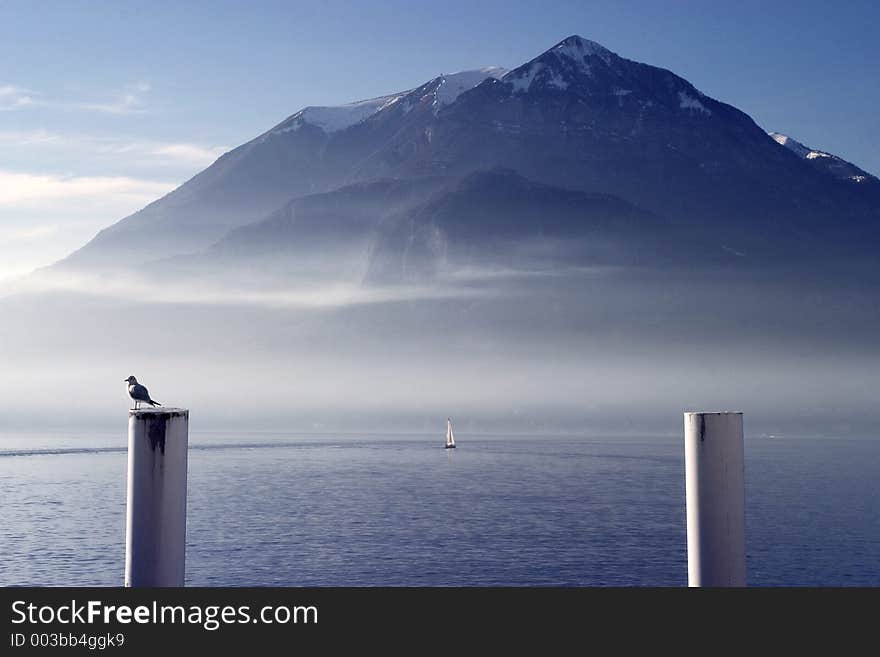
[[173, 283], [148, 299], [97, 284], [0, 299], [0, 424], [119, 426], [130, 374], [196, 426], [281, 430], [456, 415], [489, 431], [679, 431], [703, 408], [766, 433], [847, 434], [870, 430], [880, 388], [876, 300], [827, 281], [519, 272], [316, 286], [317, 303], [293, 305], [265, 289], [272, 301]]

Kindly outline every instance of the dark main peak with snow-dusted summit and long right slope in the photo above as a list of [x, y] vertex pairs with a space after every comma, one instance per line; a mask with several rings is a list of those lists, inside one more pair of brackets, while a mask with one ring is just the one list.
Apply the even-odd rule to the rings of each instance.
[[866, 226], [876, 235], [880, 196], [854, 195], [790, 157], [746, 114], [673, 73], [578, 37], [440, 116], [435, 151], [450, 163], [494, 154], [528, 178], [614, 194], [741, 252], [816, 255], [840, 238], [832, 223], [850, 245]]

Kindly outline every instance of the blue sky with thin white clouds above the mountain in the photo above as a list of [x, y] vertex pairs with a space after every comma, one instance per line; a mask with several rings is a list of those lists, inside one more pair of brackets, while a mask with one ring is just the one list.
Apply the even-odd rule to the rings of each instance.
[[304, 105], [517, 66], [570, 34], [880, 173], [874, 2], [0, 0], [0, 279]]

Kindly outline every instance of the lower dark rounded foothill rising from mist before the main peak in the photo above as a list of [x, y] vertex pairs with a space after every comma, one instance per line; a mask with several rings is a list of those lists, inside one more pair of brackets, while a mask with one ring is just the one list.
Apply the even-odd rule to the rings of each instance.
[[665, 218], [617, 197], [494, 169], [472, 173], [381, 222], [367, 279], [431, 280], [462, 270], [534, 272], [584, 264], [672, 266], [691, 243]]

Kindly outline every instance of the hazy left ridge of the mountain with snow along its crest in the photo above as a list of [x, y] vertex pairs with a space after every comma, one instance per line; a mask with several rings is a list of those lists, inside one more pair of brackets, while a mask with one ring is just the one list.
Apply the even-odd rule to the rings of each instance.
[[381, 98], [306, 107], [102, 230], [59, 264], [93, 270], [198, 251], [296, 196], [375, 178], [362, 162], [400, 129], [401, 118], [430, 122], [469, 85], [504, 73], [506, 69], [486, 67], [444, 74]]

